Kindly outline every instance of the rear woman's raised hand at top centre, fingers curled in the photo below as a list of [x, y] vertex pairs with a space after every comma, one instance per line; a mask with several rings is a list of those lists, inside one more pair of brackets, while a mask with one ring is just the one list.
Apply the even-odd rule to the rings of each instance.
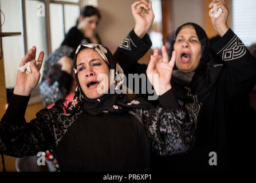
[[155, 15], [152, 10], [152, 2], [145, 0], [132, 4], [132, 15], [135, 20], [134, 31], [139, 38], [143, 38], [153, 23]]

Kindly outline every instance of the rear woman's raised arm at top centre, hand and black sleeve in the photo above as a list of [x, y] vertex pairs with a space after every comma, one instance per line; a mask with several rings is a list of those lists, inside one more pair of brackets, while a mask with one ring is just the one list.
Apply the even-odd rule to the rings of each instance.
[[152, 2], [136, 1], [131, 6], [135, 19], [134, 29], [127, 35], [115, 51], [115, 57], [124, 73], [145, 73], [146, 65], [137, 61], [150, 49], [152, 42], [147, 31], [152, 25], [155, 15], [152, 11]]

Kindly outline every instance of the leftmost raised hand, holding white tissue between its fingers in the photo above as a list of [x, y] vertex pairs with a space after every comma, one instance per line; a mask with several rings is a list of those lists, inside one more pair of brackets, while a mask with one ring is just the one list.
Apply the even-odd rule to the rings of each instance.
[[44, 51], [41, 51], [38, 56], [38, 62], [41, 64], [36, 65], [36, 46], [33, 46], [30, 49], [25, 57], [23, 57], [19, 66], [23, 66], [26, 62], [31, 61], [30, 68], [31, 72], [26, 74], [26, 72], [22, 72], [18, 70], [17, 73], [17, 81], [14, 87], [13, 93], [19, 96], [29, 96], [34, 87], [37, 86], [37, 83], [40, 79], [40, 69], [42, 66], [42, 61], [44, 59]]

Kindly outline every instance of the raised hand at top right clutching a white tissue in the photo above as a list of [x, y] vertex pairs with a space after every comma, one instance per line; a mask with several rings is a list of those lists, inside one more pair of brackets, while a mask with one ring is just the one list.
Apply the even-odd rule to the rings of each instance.
[[218, 18], [211, 17], [212, 26], [216, 32], [222, 37], [227, 30], [229, 30], [229, 26], [227, 25], [227, 17], [229, 16], [229, 9], [227, 9], [226, 3], [224, 0], [212, 0], [212, 3], [216, 3], [217, 10], [222, 9], [222, 14], [219, 15]]

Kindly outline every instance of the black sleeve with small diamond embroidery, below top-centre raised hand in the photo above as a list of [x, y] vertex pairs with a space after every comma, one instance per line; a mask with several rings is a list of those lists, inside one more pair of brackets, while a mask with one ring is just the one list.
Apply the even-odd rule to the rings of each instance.
[[140, 39], [135, 34], [134, 30], [132, 30], [121, 42], [114, 56], [125, 74], [145, 73], [147, 65], [141, 65], [137, 63], [137, 61], [147, 53], [151, 46], [152, 42], [148, 34], [146, 34], [143, 39]]

